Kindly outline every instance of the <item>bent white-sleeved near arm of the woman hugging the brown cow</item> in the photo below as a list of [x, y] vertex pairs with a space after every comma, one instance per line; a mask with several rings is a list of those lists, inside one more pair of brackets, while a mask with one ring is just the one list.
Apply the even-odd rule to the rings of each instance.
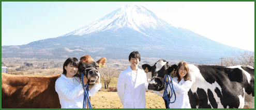
[[69, 100], [73, 100], [74, 98], [76, 98], [84, 93], [82, 84], [79, 84], [74, 89], [69, 90], [66, 82], [64, 82], [63, 80], [57, 80], [55, 82], [55, 90], [59, 96], [67, 98]]

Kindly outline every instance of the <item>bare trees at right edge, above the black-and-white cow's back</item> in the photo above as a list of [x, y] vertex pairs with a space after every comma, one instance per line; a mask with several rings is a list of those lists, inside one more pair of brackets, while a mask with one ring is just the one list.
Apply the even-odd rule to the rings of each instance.
[[254, 67], [254, 50], [237, 52], [233, 57], [225, 57], [223, 61], [224, 66], [250, 65]]

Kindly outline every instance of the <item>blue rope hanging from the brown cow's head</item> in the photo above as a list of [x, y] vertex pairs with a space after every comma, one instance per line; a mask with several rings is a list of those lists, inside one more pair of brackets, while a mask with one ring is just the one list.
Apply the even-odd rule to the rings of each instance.
[[86, 108], [86, 102], [87, 102], [87, 100], [88, 100], [88, 108], [92, 108], [92, 104], [91, 104], [91, 101], [89, 100], [89, 85], [88, 85], [88, 83], [86, 84], [86, 85], [84, 85], [84, 80], [83, 80], [83, 78], [84, 78], [84, 73], [82, 72], [81, 73], [81, 76], [82, 76], [82, 86], [83, 86], [83, 88], [85, 88], [84, 89], [84, 101], [83, 101], [83, 108]]

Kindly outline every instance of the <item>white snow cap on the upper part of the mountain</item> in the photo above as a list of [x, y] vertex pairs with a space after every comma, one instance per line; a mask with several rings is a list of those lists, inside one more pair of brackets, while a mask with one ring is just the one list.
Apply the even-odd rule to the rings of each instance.
[[[159, 19], [156, 14], [143, 5], [123, 6], [107, 14], [101, 19], [77, 29], [67, 35], [84, 35], [104, 30], [116, 30], [122, 27], [128, 27], [141, 33], [144, 28], [170, 27], [171, 25], [164, 20]], [[144, 35], [148, 36], [146, 33]]]

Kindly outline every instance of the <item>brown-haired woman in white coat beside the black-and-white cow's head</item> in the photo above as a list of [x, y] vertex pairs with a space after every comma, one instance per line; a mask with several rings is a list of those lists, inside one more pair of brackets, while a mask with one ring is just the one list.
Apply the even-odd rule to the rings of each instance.
[[[189, 78], [189, 68], [186, 62], [181, 61], [178, 63], [178, 69], [176, 71], [175, 77], [173, 79], [173, 88], [176, 94], [176, 101], [170, 103], [170, 108], [191, 108], [188, 98], [188, 91], [192, 86], [192, 82]], [[166, 79], [168, 81], [168, 78]], [[171, 80], [170, 80], [171, 83]], [[170, 86], [168, 86], [167, 91], [170, 93]], [[154, 91], [159, 96], [163, 97], [163, 91]], [[174, 101], [174, 96], [170, 99]]]

